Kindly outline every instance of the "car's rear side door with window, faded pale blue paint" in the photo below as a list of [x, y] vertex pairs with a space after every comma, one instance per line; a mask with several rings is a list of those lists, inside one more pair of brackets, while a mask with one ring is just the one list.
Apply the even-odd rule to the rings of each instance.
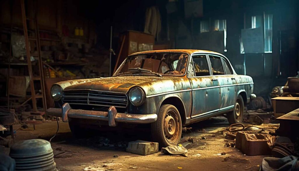
[[217, 55], [209, 55], [209, 59], [212, 70], [214, 70], [213, 75], [217, 75], [220, 85], [220, 110], [233, 108], [236, 94], [236, 80], [231, 65], [225, 58]]

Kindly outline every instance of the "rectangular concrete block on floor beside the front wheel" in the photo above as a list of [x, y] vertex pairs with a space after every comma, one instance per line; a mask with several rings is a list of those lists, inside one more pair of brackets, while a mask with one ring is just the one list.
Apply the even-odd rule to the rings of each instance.
[[148, 142], [148, 141], [132, 141], [129, 142], [126, 152], [139, 154], [139, 155], [149, 155], [154, 154], [159, 151], [159, 143]]

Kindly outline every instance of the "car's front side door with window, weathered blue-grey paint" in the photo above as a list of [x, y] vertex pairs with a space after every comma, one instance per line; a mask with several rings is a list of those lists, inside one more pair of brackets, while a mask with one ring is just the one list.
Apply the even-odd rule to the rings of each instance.
[[194, 73], [188, 73], [192, 87], [191, 118], [219, 111], [220, 87], [218, 80], [212, 76], [208, 56], [192, 55]]

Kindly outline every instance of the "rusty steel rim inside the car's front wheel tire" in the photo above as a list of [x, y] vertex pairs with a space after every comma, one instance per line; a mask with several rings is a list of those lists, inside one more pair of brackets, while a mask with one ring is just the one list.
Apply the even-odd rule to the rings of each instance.
[[179, 136], [179, 119], [175, 111], [169, 110], [163, 121], [164, 137], [169, 143], [174, 143]]

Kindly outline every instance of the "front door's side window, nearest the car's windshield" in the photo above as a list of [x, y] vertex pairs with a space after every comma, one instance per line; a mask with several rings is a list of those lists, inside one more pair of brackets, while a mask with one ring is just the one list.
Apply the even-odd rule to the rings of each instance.
[[206, 55], [193, 56], [195, 75], [208, 76], [210, 75], [208, 61]]

